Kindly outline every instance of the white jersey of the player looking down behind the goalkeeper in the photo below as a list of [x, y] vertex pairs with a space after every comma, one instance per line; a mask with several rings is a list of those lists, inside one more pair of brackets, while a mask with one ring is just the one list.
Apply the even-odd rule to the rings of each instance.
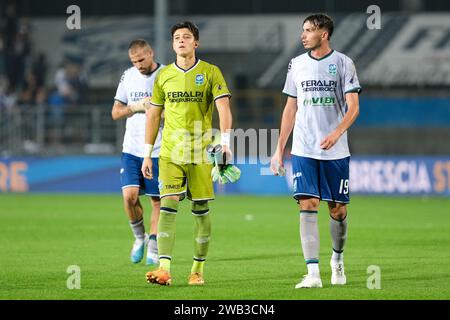
[[[161, 69], [162, 66], [158, 64], [157, 69], [149, 75], [140, 73], [136, 67], [127, 69], [120, 78], [120, 83], [117, 87], [117, 92], [114, 99], [123, 104], [129, 105], [141, 99], [150, 97], [152, 95], [155, 77]], [[140, 158], [144, 157], [145, 121], [145, 113], [135, 113], [131, 117], [127, 118], [122, 152], [129, 153]], [[161, 123], [161, 127], [153, 148], [153, 158], [159, 156], [162, 125], [163, 124]]]

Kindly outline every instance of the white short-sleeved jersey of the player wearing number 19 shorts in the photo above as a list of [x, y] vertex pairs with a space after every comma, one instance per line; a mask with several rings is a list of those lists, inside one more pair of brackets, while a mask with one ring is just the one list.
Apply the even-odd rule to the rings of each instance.
[[321, 59], [304, 53], [291, 60], [283, 93], [297, 98], [292, 154], [321, 160], [350, 156], [345, 132], [329, 150], [322, 140], [341, 123], [347, 112], [345, 94], [360, 92], [353, 61], [331, 51]]

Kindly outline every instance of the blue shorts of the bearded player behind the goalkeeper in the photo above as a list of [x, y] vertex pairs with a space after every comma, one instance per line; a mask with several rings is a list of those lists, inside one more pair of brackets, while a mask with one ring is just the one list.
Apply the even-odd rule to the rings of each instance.
[[122, 168], [120, 169], [120, 181], [122, 190], [127, 187], [139, 187], [139, 195], [159, 197], [158, 189], [158, 158], [152, 158], [153, 179], [145, 179], [141, 172], [144, 158], [133, 156], [129, 153], [122, 153]]

